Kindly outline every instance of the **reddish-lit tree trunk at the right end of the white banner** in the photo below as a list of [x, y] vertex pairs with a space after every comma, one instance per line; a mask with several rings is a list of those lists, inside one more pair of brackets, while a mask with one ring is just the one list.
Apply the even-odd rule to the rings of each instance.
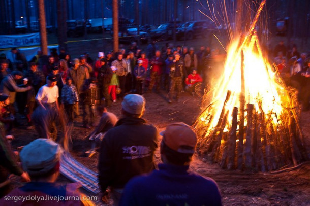
[[42, 55], [47, 55], [47, 36], [46, 36], [44, 0], [38, 0], [38, 8], [39, 8], [41, 52]]

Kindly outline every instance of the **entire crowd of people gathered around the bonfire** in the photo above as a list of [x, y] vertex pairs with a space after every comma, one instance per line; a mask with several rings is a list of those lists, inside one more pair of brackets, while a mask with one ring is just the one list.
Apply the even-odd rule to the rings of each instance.
[[[10, 205], [4, 198], [16, 195], [80, 194], [72, 190], [77, 185], [60, 187], [55, 183], [62, 149], [51, 140], [57, 139], [59, 111], [63, 106], [70, 124], [75, 123], [81, 108], [82, 126], [88, 129], [95, 126], [96, 110], [101, 115], [89, 136], [104, 133], [98, 148], [99, 185], [104, 202], [108, 203], [111, 195], [115, 205], [221, 205], [216, 183], [189, 171], [197, 143], [193, 128], [184, 123], [168, 125], [161, 133], [163, 164], [156, 165], [154, 152], [159, 133], [142, 118], [144, 93], [166, 92], [167, 102], [172, 103], [178, 101], [181, 92], [195, 95], [196, 86], [208, 88], [214, 79], [220, 78], [225, 55], [218, 49], [201, 46], [195, 52], [193, 47], [173, 47], [169, 43], [159, 49], [153, 41], [145, 51], [132, 43], [128, 50], [98, 52], [96, 60], [88, 53], [71, 59], [64, 48], [59, 54], [52, 50], [50, 56], [38, 53], [29, 62], [16, 48], [12, 54], [13, 61], [0, 54], [0, 204]], [[296, 45], [287, 49], [281, 41], [269, 56], [285, 83], [299, 91], [303, 109], [307, 110], [307, 54], [299, 54]], [[120, 119], [106, 111], [116, 101], [122, 101]], [[14, 138], [11, 130], [20, 124], [21, 118], [27, 120], [27, 129], [36, 128], [39, 134], [39, 139], [20, 153], [22, 167], [9, 144]], [[8, 195], [12, 187], [7, 179], [9, 173], [28, 183]], [[140, 176], [143, 174], [148, 175]], [[91, 201], [75, 203], [92, 205]]]

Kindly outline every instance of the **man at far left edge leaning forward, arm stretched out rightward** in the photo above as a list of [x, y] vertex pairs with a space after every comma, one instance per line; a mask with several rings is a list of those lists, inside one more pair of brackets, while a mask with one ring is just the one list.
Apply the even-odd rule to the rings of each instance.
[[12, 74], [6, 76], [0, 83], [0, 92], [10, 96], [10, 110], [15, 115], [14, 102], [16, 92], [25, 92], [30, 90], [32, 87], [19, 87], [16, 84], [16, 80], [22, 78], [22, 73], [20, 71], [13, 71]]

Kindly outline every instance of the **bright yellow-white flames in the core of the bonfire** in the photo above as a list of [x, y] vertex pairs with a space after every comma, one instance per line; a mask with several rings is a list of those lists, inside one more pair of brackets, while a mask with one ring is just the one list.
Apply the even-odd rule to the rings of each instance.
[[[247, 104], [253, 104], [258, 113], [264, 112], [265, 115], [269, 114], [269, 116], [271, 114], [270, 117], [272, 121], [276, 123], [278, 121], [276, 116], [282, 112], [281, 92], [283, 92], [284, 88], [278, 84], [278, 80], [275, 79], [276, 75], [275, 72], [272, 71], [271, 65], [265, 61], [262, 53], [258, 51], [255, 45], [255, 38], [256, 36], [251, 39], [248, 45], [242, 47], [244, 54], [245, 107]], [[239, 40], [235, 40], [230, 45], [224, 73], [212, 92], [212, 105], [210, 109], [207, 110], [208, 112], [200, 116], [200, 120], [209, 126], [206, 136], [218, 124], [228, 90], [230, 90], [232, 94], [225, 106], [225, 109], [229, 110], [229, 114], [224, 131], [228, 131], [232, 124], [231, 113], [233, 107], [240, 106], [241, 50], [238, 47]]]

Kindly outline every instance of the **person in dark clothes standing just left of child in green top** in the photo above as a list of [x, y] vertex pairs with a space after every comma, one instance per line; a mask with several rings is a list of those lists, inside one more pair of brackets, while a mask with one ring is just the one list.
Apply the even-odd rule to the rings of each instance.
[[113, 75], [113, 71], [111, 67], [107, 65], [107, 61], [105, 59], [101, 59], [100, 61], [101, 67], [98, 75], [98, 86], [102, 92], [102, 97], [105, 100], [105, 106], [110, 106], [110, 95], [109, 95], [109, 85], [111, 83], [111, 78]]

